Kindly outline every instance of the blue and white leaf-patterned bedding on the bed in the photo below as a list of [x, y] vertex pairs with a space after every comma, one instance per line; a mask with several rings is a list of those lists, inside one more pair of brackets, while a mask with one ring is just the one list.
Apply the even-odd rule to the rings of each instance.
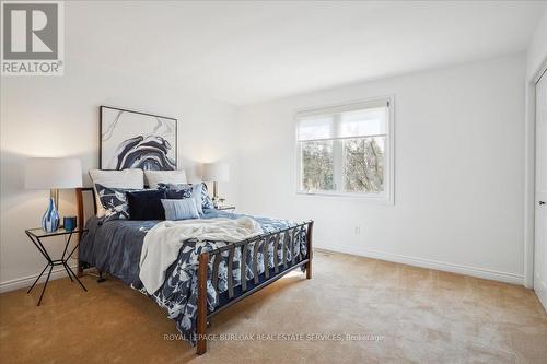
[[[218, 210], [205, 210], [201, 219], [228, 218], [237, 219], [242, 214], [230, 213]], [[283, 230], [295, 225], [290, 221], [277, 220], [271, 218], [255, 219], [265, 233]], [[139, 261], [142, 243], [147, 232], [159, 221], [130, 221], [130, 220], [110, 220], [104, 221], [98, 218], [91, 218], [86, 227], [89, 233], [83, 237], [80, 244], [80, 260], [96, 267], [101, 271], [120, 279], [131, 287], [146, 293], [142, 282], [139, 279]], [[283, 237], [281, 237], [283, 238]], [[290, 261], [292, 254], [298, 255], [299, 249], [302, 256], [306, 256], [305, 231], [301, 231], [298, 236], [298, 244], [294, 244], [293, 251], [287, 251], [287, 261]], [[197, 266], [198, 256], [201, 253], [210, 251], [228, 245], [225, 242], [198, 242], [197, 239], [187, 239], [181, 248], [177, 260], [166, 272], [166, 279], [163, 285], [151, 295], [151, 297], [163, 308], [167, 310], [167, 316], [175, 320], [177, 329], [193, 344], [196, 343], [196, 316], [197, 316]], [[269, 244], [268, 267], [274, 267], [274, 245]], [[253, 279], [252, 253], [248, 249], [246, 279]], [[228, 257], [228, 251], [225, 253]], [[282, 249], [279, 245], [277, 251], [279, 262], [282, 263]], [[258, 253], [258, 274], [265, 271], [264, 255]], [[235, 249], [233, 275], [234, 286], [241, 285], [241, 251]], [[208, 309], [214, 310], [219, 306], [220, 295], [228, 290], [226, 283], [228, 266], [226, 261], [221, 261], [219, 266], [218, 291], [211, 284], [212, 262], [209, 263], [209, 279], [207, 282]]]

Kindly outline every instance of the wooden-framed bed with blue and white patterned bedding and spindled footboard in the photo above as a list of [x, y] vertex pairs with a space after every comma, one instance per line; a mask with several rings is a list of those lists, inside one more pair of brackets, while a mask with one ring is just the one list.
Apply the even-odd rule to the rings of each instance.
[[[77, 189], [78, 218], [84, 219], [84, 193]], [[94, 204], [95, 206], [95, 204]], [[242, 214], [208, 210], [200, 219], [237, 219]], [[294, 223], [253, 216], [264, 233], [236, 243], [187, 239], [176, 261], [166, 271], [163, 285], [147, 293], [139, 279], [139, 258], [147, 233], [159, 221], [103, 221], [91, 216], [89, 232], [81, 237], [79, 273], [96, 268], [154, 300], [167, 312], [183, 336], [207, 351], [208, 321], [226, 307], [301, 269], [312, 278], [313, 221]]]

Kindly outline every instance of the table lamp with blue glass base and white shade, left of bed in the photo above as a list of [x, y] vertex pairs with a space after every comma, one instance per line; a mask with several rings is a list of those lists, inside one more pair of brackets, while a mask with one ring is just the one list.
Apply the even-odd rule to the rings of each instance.
[[59, 227], [59, 189], [82, 187], [82, 164], [78, 158], [32, 157], [25, 165], [26, 189], [49, 189], [49, 202], [42, 228], [53, 233]]

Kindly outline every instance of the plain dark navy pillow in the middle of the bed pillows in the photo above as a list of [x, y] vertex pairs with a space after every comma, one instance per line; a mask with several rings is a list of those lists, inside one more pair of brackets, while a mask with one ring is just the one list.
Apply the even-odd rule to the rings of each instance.
[[165, 220], [162, 199], [165, 190], [148, 189], [126, 192], [129, 220]]

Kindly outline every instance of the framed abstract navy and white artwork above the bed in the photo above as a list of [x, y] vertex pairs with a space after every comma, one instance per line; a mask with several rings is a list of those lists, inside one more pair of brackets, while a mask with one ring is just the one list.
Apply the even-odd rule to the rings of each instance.
[[101, 169], [176, 169], [176, 119], [109, 106], [100, 119]]

